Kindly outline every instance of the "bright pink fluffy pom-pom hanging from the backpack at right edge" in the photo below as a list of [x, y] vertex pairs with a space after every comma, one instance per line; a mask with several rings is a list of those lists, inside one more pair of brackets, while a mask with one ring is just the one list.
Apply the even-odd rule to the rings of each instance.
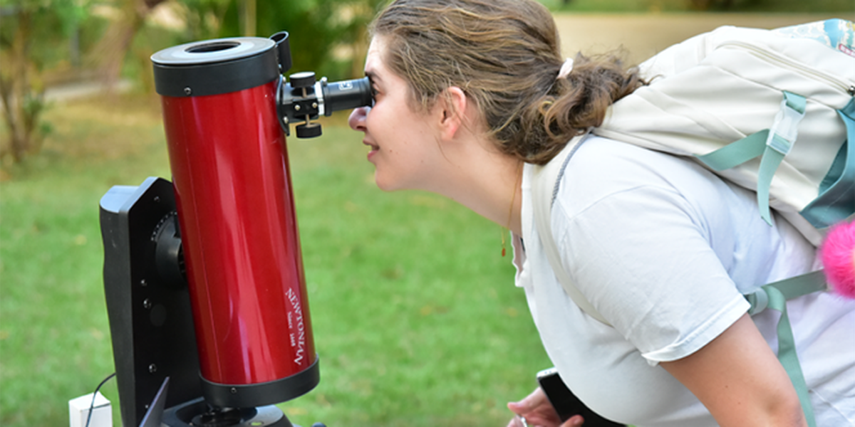
[[855, 299], [855, 222], [831, 227], [819, 251], [828, 284], [837, 294]]

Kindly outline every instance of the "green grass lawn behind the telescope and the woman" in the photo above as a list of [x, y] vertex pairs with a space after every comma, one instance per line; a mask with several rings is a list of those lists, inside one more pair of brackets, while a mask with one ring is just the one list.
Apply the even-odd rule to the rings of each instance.
[[[344, 114], [346, 115], [346, 114]], [[98, 201], [169, 177], [155, 97], [55, 105], [42, 155], [0, 182], [0, 425], [68, 425], [114, 371]], [[504, 425], [549, 366], [497, 225], [374, 186], [343, 118], [289, 140], [321, 383], [296, 424]], [[103, 389], [119, 425], [115, 380]]]

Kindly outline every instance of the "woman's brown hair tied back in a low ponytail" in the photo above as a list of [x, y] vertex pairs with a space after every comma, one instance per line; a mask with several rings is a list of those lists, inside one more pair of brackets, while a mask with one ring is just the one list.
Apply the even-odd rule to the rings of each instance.
[[534, 0], [396, 0], [371, 33], [385, 38], [383, 61], [409, 83], [416, 106], [460, 87], [499, 149], [529, 163], [550, 161], [645, 84], [616, 56], [576, 56], [573, 71], [557, 79], [555, 20]]

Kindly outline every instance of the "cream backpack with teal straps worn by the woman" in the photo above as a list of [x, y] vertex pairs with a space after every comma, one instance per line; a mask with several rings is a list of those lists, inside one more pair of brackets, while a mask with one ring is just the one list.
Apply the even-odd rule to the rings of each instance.
[[[824, 20], [776, 30], [722, 26], [689, 38], [640, 66], [651, 85], [610, 108], [593, 133], [691, 156], [758, 195], [761, 216], [781, 213], [814, 245], [855, 213], [855, 26]], [[551, 202], [569, 157], [586, 136], [536, 167], [534, 222], [564, 290], [606, 319], [563, 270], [551, 235]], [[826, 290], [823, 272], [766, 284], [746, 295], [750, 313], [781, 311], [778, 359], [816, 425], [787, 317], [787, 299]]]

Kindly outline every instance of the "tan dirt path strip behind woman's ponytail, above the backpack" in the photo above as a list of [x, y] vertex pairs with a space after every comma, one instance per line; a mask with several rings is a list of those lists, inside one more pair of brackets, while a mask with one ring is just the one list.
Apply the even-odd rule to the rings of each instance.
[[643, 61], [671, 44], [701, 32], [708, 32], [717, 26], [775, 28], [828, 18], [855, 20], [855, 14], [555, 15], [564, 56], [575, 56], [580, 50], [583, 53], [601, 53], [622, 46], [628, 50], [628, 59], [632, 63]]

